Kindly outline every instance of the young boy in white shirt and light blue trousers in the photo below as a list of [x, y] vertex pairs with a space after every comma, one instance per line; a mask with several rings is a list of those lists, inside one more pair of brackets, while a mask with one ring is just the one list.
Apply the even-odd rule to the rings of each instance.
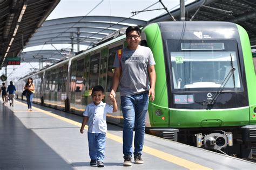
[[[102, 86], [95, 86], [92, 89], [93, 102], [86, 106], [84, 111], [83, 123], [80, 129], [80, 133], [84, 133], [84, 126], [88, 121], [88, 143], [89, 143], [89, 155], [91, 158], [90, 165], [97, 167], [104, 167], [104, 153], [105, 153], [105, 141], [106, 141], [106, 113], [112, 113], [117, 111], [116, 98], [111, 98], [113, 105], [103, 103], [102, 100], [105, 97], [104, 89]], [[96, 162], [97, 161], [97, 162]]]

